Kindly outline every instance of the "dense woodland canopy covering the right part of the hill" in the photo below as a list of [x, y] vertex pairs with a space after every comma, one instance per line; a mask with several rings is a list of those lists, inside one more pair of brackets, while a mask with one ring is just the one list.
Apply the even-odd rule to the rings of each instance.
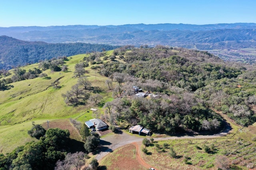
[[[216, 85], [220, 81], [234, 83], [234, 80], [240, 80], [238, 75], [246, 72], [246, 67], [242, 64], [225, 63], [206, 51], [173, 49], [161, 45], [130, 50], [120, 48], [113, 54], [125, 63], [111, 61], [95, 66], [104, 76], [111, 78], [114, 75], [113, 78], [117, 82], [124, 77], [121, 81], [123, 86], [119, 83], [114, 88], [117, 98], [106, 105], [107, 108], [114, 108], [113, 112], [109, 111], [113, 116], [110, 117], [111, 121], [126, 119], [153, 131], [214, 131], [223, 125], [223, 120], [210, 108], [226, 109], [224, 113], [240, 125], [250, 125], [256, 121], [254, 112], [250, 110], [252, 103], [246, 102], [255, 98], [255, 90], [243, 91], [243, 95], [233, 92], [232, 94], [236, 95], [230, 96], [231, 89], [218, 88]], [[217, 89], [208, 91], [208, 87], [213, 84], [214, 89]], [[129, 93], [128, 88], [134, 85], [149, 93], [159, 94], [162, 98], [120, 100], [122, 95]], [[253, 83], [250, 89], [252, 86]], [[122, 93], [122, 90], [125, 90], [126, 94]], [[222, 94], [221, 98], [219, 94]]]

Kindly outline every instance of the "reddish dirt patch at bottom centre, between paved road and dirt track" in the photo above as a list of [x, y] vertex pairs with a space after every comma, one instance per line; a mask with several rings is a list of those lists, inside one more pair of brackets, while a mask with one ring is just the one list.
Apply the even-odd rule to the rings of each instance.
[[146, 170], [148, 167], [142, 166], [136, 155], [136, 146], [128, 144], [110, 153], [100, 165], [103, 164], [110, 170]]

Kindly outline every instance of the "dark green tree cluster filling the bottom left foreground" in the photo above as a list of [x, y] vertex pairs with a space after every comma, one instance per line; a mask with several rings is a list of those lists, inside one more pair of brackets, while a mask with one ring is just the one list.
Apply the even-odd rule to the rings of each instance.
[[[95, 152], [100, 142], [98, 134], [91, 134], [88, 127], [80, 126], [80, 134], [84, 143], [70, 139], [68, 130], [49, 128], [32, 122], [28, 130], [31, 137], [38, 139], [17, 147], [12, 152], [0, 154], [0, 170], [69, 170], [81, 169], [85, 166], [89, 152]], [[84, 145], [81, 149], [80, 145]], [[72, 149], [76, 145], [76, 149]], [[92, 159], [87, 170], [96, 170], [98, 161]]]

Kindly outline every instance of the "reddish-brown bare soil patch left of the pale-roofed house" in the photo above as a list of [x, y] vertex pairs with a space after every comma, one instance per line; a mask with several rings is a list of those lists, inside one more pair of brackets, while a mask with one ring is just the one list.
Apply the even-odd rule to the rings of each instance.
[[[78, 130], [67, 119], [49, 121], [48, 124], [49, 124], [49, 128], [57, 128], [58, 127], [63, 130], [68, 129], [70, 132], [71, 139], [75, 139], [77, 141], [82, 140]], [[47, 130], [48, 129], [47, 122], [43, 123], [42, 127], [44, 127], [44, 129]]]

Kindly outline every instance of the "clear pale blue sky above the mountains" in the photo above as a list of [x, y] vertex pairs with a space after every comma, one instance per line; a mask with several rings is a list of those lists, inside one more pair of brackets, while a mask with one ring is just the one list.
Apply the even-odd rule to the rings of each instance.
[[0, 27], [256, 23], [256, 0], [0, 0]]

